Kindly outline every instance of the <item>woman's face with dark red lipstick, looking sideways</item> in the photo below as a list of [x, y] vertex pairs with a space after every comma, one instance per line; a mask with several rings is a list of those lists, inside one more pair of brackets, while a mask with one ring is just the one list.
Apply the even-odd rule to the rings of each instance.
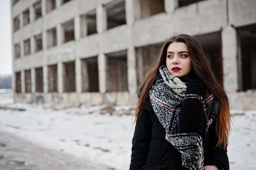
[[191, 57], [184, 42], [173, 42], [167, 48], [166, 66], [168, 71], [181, 80], [186, 80], [192, 70]]

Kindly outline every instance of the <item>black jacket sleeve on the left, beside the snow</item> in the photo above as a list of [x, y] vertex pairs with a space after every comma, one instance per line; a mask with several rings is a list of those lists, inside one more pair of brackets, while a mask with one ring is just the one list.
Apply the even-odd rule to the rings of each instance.
[[132, 155], [130, 170], [142, 170], [148, 154], [151, 140], [151, 119], [150, 111], [144, 110], [136, 122], [135, 131], [132, 138]]

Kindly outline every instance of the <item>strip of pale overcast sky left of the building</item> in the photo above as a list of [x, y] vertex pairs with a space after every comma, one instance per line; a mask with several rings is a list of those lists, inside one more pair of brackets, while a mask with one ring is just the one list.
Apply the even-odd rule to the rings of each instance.
[[0, 0], [0, 11], [0, 75], [11, 75], [11, 0]]

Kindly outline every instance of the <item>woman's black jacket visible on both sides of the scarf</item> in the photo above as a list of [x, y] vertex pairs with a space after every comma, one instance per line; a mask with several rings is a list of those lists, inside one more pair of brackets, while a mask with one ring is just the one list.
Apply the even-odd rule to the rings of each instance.
[[[227, 150], [215, 148], [218, 137], [214, 126], [212, 123], [208, 131], [204, 165], [215, 165], [219, 170], [229, 170]], [[181, 159], [180, 152], [165, 140], [164, 127], [147, 98], [143, 113], [135, 126], [130, 170], [188, 170], [182, 167]]]

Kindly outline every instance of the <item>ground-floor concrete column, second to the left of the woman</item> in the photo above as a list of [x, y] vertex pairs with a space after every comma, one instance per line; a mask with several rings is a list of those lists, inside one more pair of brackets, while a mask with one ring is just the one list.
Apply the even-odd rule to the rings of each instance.
[[99, 92], [105, 93], [107, 90], [106, 56], [103, 53], [100, 53], [98, 56], [98, 69], [99, 69]]

